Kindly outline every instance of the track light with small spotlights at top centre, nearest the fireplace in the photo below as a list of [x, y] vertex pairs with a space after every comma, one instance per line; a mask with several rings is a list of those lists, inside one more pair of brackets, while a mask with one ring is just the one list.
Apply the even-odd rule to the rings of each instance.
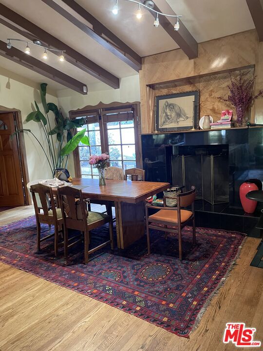
[[[118, 5], [118, 0], [115, 0], [115, 5], [113, 6], [113, 14], [117, 15], [119, 12], [119, 5]], [[179, 24], [179, 17], [182, 16], [178, 16], [178, 15], [169, 15], [169, 14], [164, 14], [160, 11], [156, 11], [154, 10], [154, 2], [151, 0], [144, 0], [144, 1], [137, 1], [137, 0], [123, 0], [123, 1], [129, 1], [129, 2], [134, 2], [136, 4], [138, 4], [138, 9], [136, 11], [136, 18], [138, 20], [140, 20], [142, 18], [142, 10], [141, 10], [141, 6], [146, 7], [149, 11], [152, 11], [156, 14], [156, 18], [153, 22], [154, 27], [158, 27], [160, 24], [159, 21], [159, 16], [165, 16], [165, 17], [174, 17], [176, 18], [176, 22], [174, 24], [174, 30], [178, 31], [180, 28], [180, 24]]]

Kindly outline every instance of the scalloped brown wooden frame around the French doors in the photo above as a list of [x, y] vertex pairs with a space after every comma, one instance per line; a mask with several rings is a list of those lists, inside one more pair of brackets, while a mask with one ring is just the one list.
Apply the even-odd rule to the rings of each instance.
[[[83, 108], [77, 109], [77, 110], [71, 110], [69, 111], [69, 117], [70, 119], [74, 119], [76, 117], [83, 117], [85, 116], [85, 113], [87, 112], [92, 112], [92, 111], [97, 111], [99, 109], [117, 109], [117, 108], [132, 108], [134, 110], [134, 117], [137, 118], [137, 123], [134, 124], [134, 129], [137, 130], [137, 134], [135, 133], [135, 143], [137, 142], [138, 145], [138, 164], [136, 165], [137, 168], [142, 169], [142, 144], [141, 144], [141, 134], [142, 134], [142, 128], [141, 128], [141, 109], [140, 109], [141, 103], [139, 101], [136, 102], [111, 102], [109, 104], [105, 104], [103, 102], [99, 102], [97, 105], [87, 105]], [[103, 124], [103, 123], [102, 123]], [[102, 133], [102, 131], [100, 132]], [[104, 142], [101, 140], [101, 142]], [[80, 165], [79, 165], [79, 152], [78, 148], [76, 148], [73, 151], [73, 157], [74, 157], [74, 168], [75, 168], [75, 176], [76, 177], [81, 177], [80, 174]], [[136, 157], [137, 158], [137, 157]], [[137, 163], [137, 162], [136, 162]]]

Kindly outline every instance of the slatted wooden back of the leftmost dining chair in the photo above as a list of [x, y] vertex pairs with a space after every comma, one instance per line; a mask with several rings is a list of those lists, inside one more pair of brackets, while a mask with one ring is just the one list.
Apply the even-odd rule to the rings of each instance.
[[[31, 185], [30, 191], [32, 193], [36, 216], [38, 216], [38, 218], [41, 221], [47, 220], [48, 218], [50, 219], [50, 215], [48, 214], [49, 212], [49, 204], [47, 202], [47, 197], [48, 197], [50, 199], [53, 217], [55, 220], [57, 220], [56, 204], [54, 200], [54, 195], [52, 193], [52, 188], [44, 184], [34, 184], [34, 185]], [[38, 195], [38, 200], [36, 195]], [[39, 200], [41, 203], [41, 209], [43, 210], [43, 214], [39, 213]]]

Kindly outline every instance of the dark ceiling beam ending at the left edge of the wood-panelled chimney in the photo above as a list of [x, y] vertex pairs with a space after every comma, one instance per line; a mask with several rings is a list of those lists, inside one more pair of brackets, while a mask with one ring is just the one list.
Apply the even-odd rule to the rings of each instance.
[[141, 69], [142, 59], [136, 54], [127, 44], [115, 36], [108, 28], [96, 20], [88, 11], [78, 5], [74, 0], [62, 0], [67, 4], [76, 14], [80, 15], [84, 20], [88, 21], [92, 27], [88, 27], [85, 23], [78, 20], [74, 15], [58, 5], [53, 0], [42, 0], [45, 4], [50, 6], [53, 10], [63, 16], [65, 19], [73, 23], [82, 32], [93, 38], [96, 42], [108, 49], [113, 55], [127, 63], [135, 71], [139, 72]]

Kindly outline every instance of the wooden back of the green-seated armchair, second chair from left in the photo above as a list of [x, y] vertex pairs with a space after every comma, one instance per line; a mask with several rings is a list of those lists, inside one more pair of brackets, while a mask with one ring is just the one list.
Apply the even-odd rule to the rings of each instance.
[[[71, 186], [57, 189], [64, 225], [67, 228], [84, 232], [87, 227], [87, 207], [83, 201], [82, 191]], [[77, 217], [76, 201], [79, 200], [81, 218]]]

